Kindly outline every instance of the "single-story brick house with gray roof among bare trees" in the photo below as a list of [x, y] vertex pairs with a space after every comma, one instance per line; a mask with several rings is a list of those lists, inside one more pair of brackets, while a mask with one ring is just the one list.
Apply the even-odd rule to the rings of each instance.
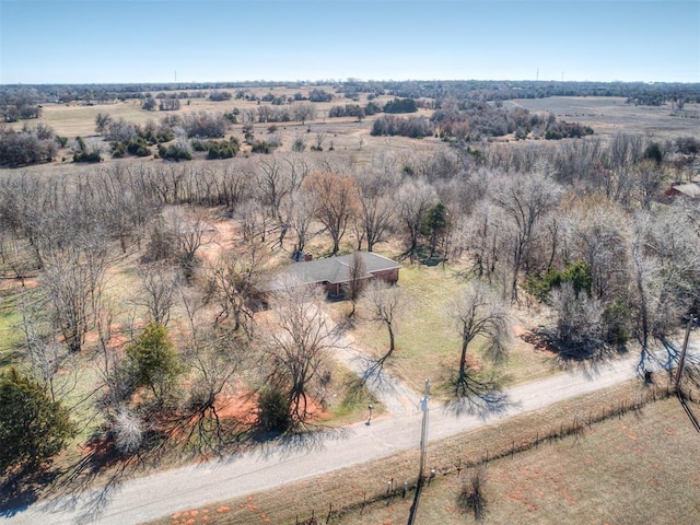
[[[361, 279], [382, 279], [388, 283], [398, 281], [401, 265], [374, 252], [359, 252], [359, 255], [364, 267]], [[352, 280], [352, 265], [353, 254], [292, 262], [262, 284], [260, 291], [269, 293], [281, 290], [291, 279], [300, 284], [322, 284], [328, 295], [341, 296], [346, 285]]]

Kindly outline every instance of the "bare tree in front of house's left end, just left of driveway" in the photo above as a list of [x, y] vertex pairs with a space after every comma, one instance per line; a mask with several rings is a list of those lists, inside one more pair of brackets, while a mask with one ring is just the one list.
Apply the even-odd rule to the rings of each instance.
[[322, 288], [287, 282], [270, 301], [276, 326], [270, 327], [267, 353], [271, 381], [287, 393], [292, 422], [301, 424], [310, 415], [310, 395], [334, 347], [334, 335], [325, 312]]

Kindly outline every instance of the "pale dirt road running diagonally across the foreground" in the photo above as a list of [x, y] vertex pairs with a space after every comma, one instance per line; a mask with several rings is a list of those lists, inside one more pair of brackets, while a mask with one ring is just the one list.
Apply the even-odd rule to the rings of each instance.
[[[432, 440], [634, 378], [638, 364], [639, 358], [632, 357], [510, 388], [498, 411], [477, 413], [466, 406], [431, 401], [429, 446]], [[72, 498], [40, 501], [12, 515], [0, 514], [0, 525], [140, 523], [418, 447], [420, 428], [421, 412], [416, 406], [398, 416], [372, 420], [369, 425], [358, 423], [323, 436], [279, 442]]]

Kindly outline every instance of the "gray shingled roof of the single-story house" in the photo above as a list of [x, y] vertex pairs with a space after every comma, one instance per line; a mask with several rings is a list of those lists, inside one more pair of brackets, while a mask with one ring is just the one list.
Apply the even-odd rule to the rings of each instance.
[[[374, 252], [360, 252], [364, 264], [363, 279], [372, 277], [378, 271], [401, 268], [395, 260], [375, 254]], [[293, 262], [285, 266], [272, 280], [261, 287], [262, 291], [271, 292], [280, 290], [288, 279], [294, 279], [300, 284], [317, 284], [329, 282], [340, 284], [349, 282], [351, 277], [352, 254], [329, 257], [327, 259], [314, 259], [302, 262]]]

